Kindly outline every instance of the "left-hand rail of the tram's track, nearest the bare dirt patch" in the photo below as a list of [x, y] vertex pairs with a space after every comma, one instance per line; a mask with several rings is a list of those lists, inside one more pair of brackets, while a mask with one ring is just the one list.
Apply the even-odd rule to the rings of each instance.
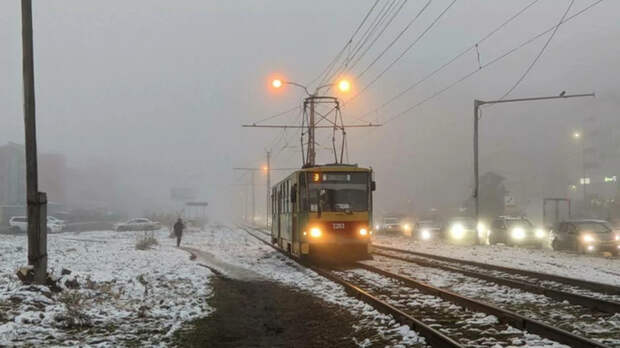
[[255, 235], [254, 233], [250, 232], [248, 229], [252, 229], [252, 230], [257, 230], [263, 234], [263, 231], [260, 231], [254, 227], [243, 227], [240, 226], [243, 230], [246, 231], [246, 233], [248, 233], [250, 236], [258, 239], [260, 242], [274, 248], [275, 250], [279, 251], [280, 253], [286, 255], [287, 257], [289, 257], [290, 259], [292, 259], [293, 261], [297, 262], [299, 265], [304, 266], [314, 272], [316, 272], [318, 275], [327, 278], [331, 281], [333, 281], [334, 283], [340, 284], [342, 285], [342, 287], [344, 287], [345, 291], [347, 294], [355, 297], [356, 299], [363, 301], [367, 304], [369, 304], [370, 306], [372, 306], [373, 308], [375, 308], [377, 311], [384, 313], [384, 314], [388, 314], [391, 315], [394, 320], [396, 320], [397, 322], [399, 322], [400, 324], [403, 325], [408, 325], [412, 330], [417, 331], [420, 335], [424, 336], [424, 338], [426, 339], [426, 341], [433, 347], [454, 347], [454, 348], [462, 348], [463, 345], [459, 344], [458, 342], [456, 342], [455, 340], [451, 339], [450, 337], [444, 335], [443, 333], [433, 329], [432, 327], [424, 324], [423, 322], [421, 322], [420, 320], [404, 313], [403, 311], [397, 309], [396, 307], [388, 304], [385, 301], [382, 301], [380, 299], [378, 299], [377, 297], [369, 294], [368, 292], [362, 290], [361, 288], [351, 284], [350, 282], [337, 277], [336, 275], [332, 274], [329, 271], [326, 271], [322, 268], [313, 266], [313, 265], [309, 265], [307, 263], [302, 262], [299, 259], [296, 259], [294, 257], [291, 257], [291, 255], [287, 254], [282, 248], [279, 248], [271, 243], [269, 243], [268, 241], [262, 239], [261, 237]]

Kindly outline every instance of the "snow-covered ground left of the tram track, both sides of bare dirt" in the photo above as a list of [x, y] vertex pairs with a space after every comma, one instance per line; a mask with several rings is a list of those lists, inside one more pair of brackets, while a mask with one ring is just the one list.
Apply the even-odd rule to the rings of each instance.
[[[424, 338], [344, 289], [297, 265], [239, 228], [209, 226], [186, 233], [177, 249], [168, 231], [159, 245], [136, 250], [142, 232], [97, 231], [48, 236], [49, 269], [61, 292], [25, 286], [16, 270], [26, 264], [24, 235], [0, 235], [0, 347], [168, 346], [185, 322], [207, 316], [214, 276], [279, 282], [346, 308], [364, 337], [372, 328], [383, 342], [419, 345]], [[189, 259], [192, 251], [198, 256]], [[70, 274], [63, 274], [63, 269]], [[372, 346], [373, 338], [352, 338]]]

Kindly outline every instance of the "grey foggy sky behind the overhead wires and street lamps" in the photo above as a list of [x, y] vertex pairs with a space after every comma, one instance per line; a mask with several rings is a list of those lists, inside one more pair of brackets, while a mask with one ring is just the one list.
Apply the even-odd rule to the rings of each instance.
[[[478, 67], [475, 51], [376, 112], [393, 95], [476, 43], [530, 1], [458, 1], [416, 46], [359, 97], [347, 124], [384, 122]], [[374, 1], [34, 1], [40, 152], [59, 153], [85, 182], [68, 204], [102, 201], [130, 215], [175, 209], [175, 187], [196, 189], [215, 219], [242, 214], [247, 172], [233, 167], [301, 165], [299, 131], [242, 128], [301, 103], [273, 93], [280, 74], [307, 83], [351, 36]], [[362, 62], [347, 72], [360, 92], [450, 3], [435, 0], [361, 79], [367, 66], [426, 1], [409, 1]], [[569, 1], [539, 1], [479, 48], [485, 64], [557, 24]], [[576, 0], [569, 16], [593, 3]], [[383, 4], [383, 0], [380, 1]], [[381, 5], [380, 5], [381, 6]], [[19, 1], [0, 2], [0, 145], [23, 143]], [[542, 197], [567, 196], [581, 175], [572, 132], [584, 122], [620, 131], [620, 3], [603, 1], [559, 27], [510, 97], [596, 92], [596, 98], [483, 108], [480, 171], [494, 171], [529, 214]], [[348, 131], [349, 160], [371, 166], [379, 214], [458, 207], [472, 192], [474, 99], [497, 99], [517, 81], [549, 34], [379, 128]], [[373, 111], [369, 115], [368, 111]], [[298, 112], [264, 124], [298, 124]], [[587, 121], [593, 118], [594, 121]], [[614, 133], [620, 136], [620, 133]], [[320, 131], [319, 142], [329, 137]], [[618, 138], [618, 137], [616, 137]], [[275, 145], [274, 145], [275, 144]], [[289, 144], [290, 148], [284, 148]], [[619, 143], [615, 144], [620, 145]], [[615, 154], [618, 153], [615, 148]], [[600, 152], [601, 149], [599, 149]], [[332, 161], [321, 149], [318, 162]], [[602, 168], [620, 170], [620, 157]], [[603, 170], [603, 169], [601, 169]], [[607, 170], [607, 169], [605, 169]], [[272, 182], [285, 172], [274, 172]], [[601, 175], [606, 173], [601, 173]], [[620, 173], [618, 173], [620, 174]], [[85, 178], [86, 177], [86, 178]], [[256, 173], [257, 212], [264, 175]], [[615, 192], [615, 191], [614, 191]], [[54, 199], [51, 197], [51, 199]]]

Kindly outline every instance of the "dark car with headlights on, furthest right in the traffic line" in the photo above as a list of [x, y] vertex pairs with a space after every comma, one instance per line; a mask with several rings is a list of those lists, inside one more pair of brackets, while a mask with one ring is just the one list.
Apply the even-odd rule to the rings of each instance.
[[605, 220], [569, 220], [553, 230], [553, 250], [572, 250], [580, 254], [609, 251], [620, 253], [620, 231]]

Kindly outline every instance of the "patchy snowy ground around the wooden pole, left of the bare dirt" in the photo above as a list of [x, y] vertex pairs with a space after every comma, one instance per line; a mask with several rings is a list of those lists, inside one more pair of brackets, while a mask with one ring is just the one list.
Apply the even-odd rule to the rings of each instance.
[[207, 315], [212, 273], [167, 231], [154, 232], [159, 245], [148, 250], [135, 248], [141, 235], [49, 235], [59, 293], [22, 285], [15, 271], [26, 264], [27, 238], [0, 235], [0, 346], [165, 346], [182, 322]]

